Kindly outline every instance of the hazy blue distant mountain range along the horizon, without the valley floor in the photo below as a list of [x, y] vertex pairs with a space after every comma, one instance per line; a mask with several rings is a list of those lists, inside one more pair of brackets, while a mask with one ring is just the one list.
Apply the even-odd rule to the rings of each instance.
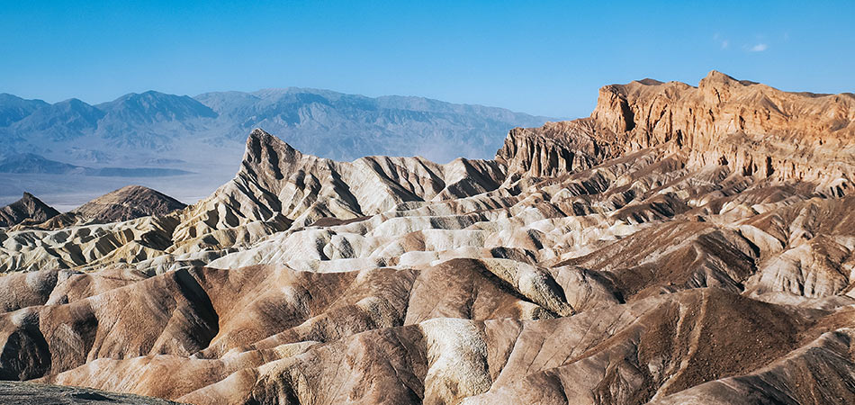
[[293, 87], [196, 97], [148, 91], [96, 105], [75, 98], [49, 104], [0, 94], [4, 150], [53, 155], [73, 164], [108, 163], [134, 149], [175, 158], [166, 152], [187, 141], [241, 149], [256, 127], [321, 157], [492, 157], [510, 128], [547, 120], [423, 97], [372, 98]]

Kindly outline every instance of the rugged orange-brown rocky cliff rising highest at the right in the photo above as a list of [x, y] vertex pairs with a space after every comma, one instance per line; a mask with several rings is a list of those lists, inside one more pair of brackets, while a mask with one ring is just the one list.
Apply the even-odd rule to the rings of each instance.
[[599, 90], [590, 118], [512, 130], [497, 159], [548, 176], [644, 148], [690, 166], [851, 193], [855, 94], [788, 93], [712, 71], [697, 87], [652, 79]]

